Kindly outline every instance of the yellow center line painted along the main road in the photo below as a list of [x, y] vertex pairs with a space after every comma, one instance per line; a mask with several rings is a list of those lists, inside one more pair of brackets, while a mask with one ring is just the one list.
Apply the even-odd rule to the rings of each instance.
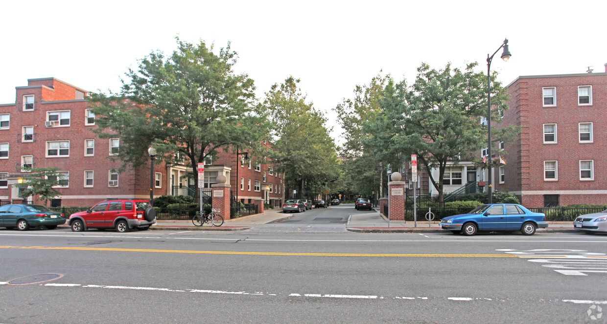
[[[195, 250], [151, 250], [128, 248], [90, 248], [81, 246], [0, 246], [10, 249], [34, 250], [70, 250], [70, 251], [112, 251], [112, 252], [151, 252], [151, 253], [189, 253], [189, 254], [238, 254], [248, 256], [341, 256], [341, 257], [554, 257], [567, 256], [521, 256], [516, 254], [389, 254], [389, 253], [288, 253], [288, 252], [239, 252], [239, 251], [195, 251]], [[607, 259], [607, 257], [592, 257], [592, 259]]]

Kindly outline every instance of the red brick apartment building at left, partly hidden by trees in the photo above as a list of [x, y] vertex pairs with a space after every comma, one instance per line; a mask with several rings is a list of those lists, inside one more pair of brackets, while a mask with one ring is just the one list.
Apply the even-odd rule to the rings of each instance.
[[[61, 197], [52, 205], [86, 207], [108, 197], [149, 199], [149, 166], [116, 171], [121, 162], [110, 157], [120, 149], [120, 139], [100, 139], [92, 133], [95, 116], [87, 110], [86, 94], [55, 78], [29, 79], [27, 86], [16, 87], [14, 104], [0, 104], [1, 201], [24, 200], [17, 182], [27, 176], [24, 168], [48, 167], [60, 170], [56, 188]], [[280, 205], [282, 174], [254, 157], [236, 170], [236, 161], [242, 157], [226, 149], [209, 159], [205, 187], [223, 174], [240, 201], [264, 199]], [[194, 190], [191, 168], [183, 164], [156, 164], [154, 173], [154, 196]]]

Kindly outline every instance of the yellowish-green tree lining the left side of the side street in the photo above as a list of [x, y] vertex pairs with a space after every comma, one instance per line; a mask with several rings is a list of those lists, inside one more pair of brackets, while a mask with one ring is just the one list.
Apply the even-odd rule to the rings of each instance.
[[292, 76], [274, 84], [266, 93], [265, 105], [273, 124], [273, 158], [285, 174], [285, 186], [319, 194], [339, 177], [337, 154], [327, 119], [307, 103]]

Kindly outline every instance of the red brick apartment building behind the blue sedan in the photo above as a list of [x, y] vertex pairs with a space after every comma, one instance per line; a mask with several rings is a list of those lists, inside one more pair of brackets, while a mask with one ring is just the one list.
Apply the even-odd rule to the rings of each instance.
[[520, 76], [508, 93], [496, 127], [521, 133], [505, 145], [504, 176], [493, 169], [495, 190], [526, 207], [607, 202], [607, 73]]

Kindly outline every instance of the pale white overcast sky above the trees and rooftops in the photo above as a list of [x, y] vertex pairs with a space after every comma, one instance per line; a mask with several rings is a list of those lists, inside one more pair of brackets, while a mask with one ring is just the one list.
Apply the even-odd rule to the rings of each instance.
[[[517, 76], [605, 72], [607, 1], [10, 1], [0, 19], [0, 104], [27, 79], [54, 77], [117, 91], [128, 67], [175, 36], [216, 48], [231, 42], [238, 73], [259, 98], [289, 75], [314, 107], [331, 110], [380, 71], [410, 82], [421, 62], [492, 62]], [[334, 137], [339, 130], [334, 131]], [[339, 141], [338, 141], [339, 142]]]

